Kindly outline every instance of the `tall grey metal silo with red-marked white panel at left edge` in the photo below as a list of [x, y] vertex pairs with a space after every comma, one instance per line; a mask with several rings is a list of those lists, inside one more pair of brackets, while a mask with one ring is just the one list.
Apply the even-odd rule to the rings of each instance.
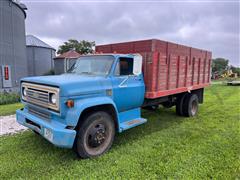
[[0, 0], [0, 91], [13, 90], [27, 76], [26, 6]]

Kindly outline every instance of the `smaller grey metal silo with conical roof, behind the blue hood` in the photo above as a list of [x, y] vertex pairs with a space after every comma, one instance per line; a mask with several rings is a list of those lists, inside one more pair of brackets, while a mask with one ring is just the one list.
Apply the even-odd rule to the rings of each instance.
[[29, 76], [41, 76], [53, 69], [56, 50], [33, 35], [26, 36]]

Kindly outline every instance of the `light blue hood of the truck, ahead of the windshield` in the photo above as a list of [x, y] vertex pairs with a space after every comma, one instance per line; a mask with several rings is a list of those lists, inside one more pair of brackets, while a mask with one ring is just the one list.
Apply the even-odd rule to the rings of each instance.
[[37, 83], [60, 88], [60, 96], [79, 96], [105, 93], [111, 89], [109, 78], [103, 76], [87, 76], [78, 74], [62, 74], [55, 76], [36, 76], [23, 78], [21, 81]]

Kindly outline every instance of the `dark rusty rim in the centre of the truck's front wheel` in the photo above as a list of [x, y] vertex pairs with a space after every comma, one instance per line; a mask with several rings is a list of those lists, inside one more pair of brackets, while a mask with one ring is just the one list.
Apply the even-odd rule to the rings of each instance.
[[89, 129], [87, 145], [90, 148], [98, 148], [104, 144], [107, 138], [107, 129], [104, 124], [98, 123]]

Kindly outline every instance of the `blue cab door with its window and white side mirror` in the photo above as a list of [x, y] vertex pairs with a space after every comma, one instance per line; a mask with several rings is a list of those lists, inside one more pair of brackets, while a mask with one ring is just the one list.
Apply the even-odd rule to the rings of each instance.
[[119, 112], [138, 108], [144, 101], [142, 57], [120, 57], [112, 78], [113, 100]]

